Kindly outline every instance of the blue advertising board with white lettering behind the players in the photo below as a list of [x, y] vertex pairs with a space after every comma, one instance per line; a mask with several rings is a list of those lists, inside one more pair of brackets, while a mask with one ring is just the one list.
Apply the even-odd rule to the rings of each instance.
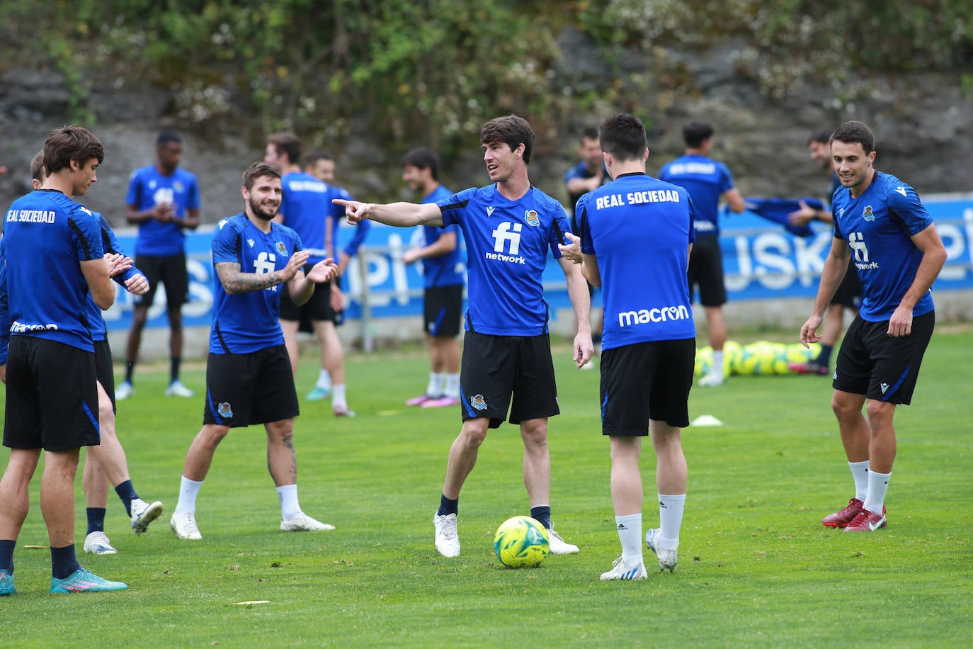
[[[933, 286], [936, 291], [973, 288], [973, 194], [923, 197], [946, 245], [949, 258]], [[354, 226], [342, 224], [340, 242]], [[732, 301], [811, 298], [831, 246], [831, 230], [815, 224], [809, 237], [795, 236], [756, 214], [744, 212], [722, 221], [721, 248], [728, 297]], [[134, 232], [120, 231], [124, 249], [135, 248]], [[345, 317], [386, 318], [422, 313], [422, 277], [418, 264], [402, 263], [402, 253], [419, 240], [419, 230], [373, 224], [368, 237], [342, 278], [347, 298]], [[210, 231], [188, 234], [187, 267], [190, 302], [183, 306], [184, 325], [209, 326], [213, 303]], [[543, 281], [552, 313], [569, 307], [564, 275], [549, 259]], [[163, 291], [149, 310], [150, 327], [166, 327]], [[105, 312], [109, 329], [127, 329], [131, 296], [118, 289], [115, 305]]]

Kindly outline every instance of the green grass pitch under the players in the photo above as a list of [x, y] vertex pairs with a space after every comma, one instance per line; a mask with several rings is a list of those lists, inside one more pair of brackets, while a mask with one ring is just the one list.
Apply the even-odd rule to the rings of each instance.
[[[781, 335], [783, 336], [783, 335]], [[790, 332], [788, 333], [790, 338]], [[522, 444], [510, 424], [491, 431], [463, 490], [463, 554], [439, 557], [431, 519], [455, 410], [406, 409], [425, 385], [424, 353], [349, 356], [353, 419], [302, 403], [295, 427], [304, 510], [338, 529], [278, 531], [263, 429], [231, 433], [198, 499], [203, 539], [168, 529], [179, 476], [199, 429], [200, 397], [162, 396], [165, 372], [146, 368], [120, 404], [119, 436], [135, 487], [166, 511], [136, 537], [114, 493], [106, 531], [119, 554], [82, 556], [126, 581], [103, 595], [50, 595], [50, 556], [37, 494], [18, 541], [18, 595], [0, 599], [3, 646], [890, 646], [973, 645], [973, 333], [941, 327], [915, 405], [896, 415], [899, 452], [888, 525], [844, 534], [820, 519], [845, 504], [851, 478], [830, 410], [830, 380], [731, 378], [694, 388], [691, 416], [722, 427], [683, 433], [689, 494], [675, 572], [646, 551], [649, 578], [598, 580], [620, 555], [600, 434], [597, 372], [556, 353], [561, 415], [551, 420], [553, 513], [581, 554], [510, 570], [492, 535], [527, 514]], [[304, 395], [316, 374], [309, 356]], [[203, 373], [183, 377], [201, 393]], [[655, 525], [655, 459], [645, 445], [646, 525]], [[5, 460], [4, 460], [5, 461]], [[78, 474], [78, 540], [84, 501]], [[234, 605], [246, 600], [266, 604]]]

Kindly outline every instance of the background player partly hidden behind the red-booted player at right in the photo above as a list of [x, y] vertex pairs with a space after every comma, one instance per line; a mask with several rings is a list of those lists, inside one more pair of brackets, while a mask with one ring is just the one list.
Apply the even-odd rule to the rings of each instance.
[[[842, 181], [835, 172], [835, 163], [831, 159], [831, 132], [830, 130], [818, 130], [811, 134], [808, 139], [808, 153], [811, 155], [811, 161], [827, 173], [830, 180], [828, 184], [829, 204], [835, 190], [842, 186]], [[804, 201], [801, 202], [801, 209], [788, 215], [788, 221], [795, 226], [807, 225], [811, 221], [821, 221], [830, 226], [834, 225], [830, 207], [828, 209], [814, 209]], [[854, 315], [857, 315], [859, 306], [861, 306], [861, 281], [858, 279], [858, 270], [854, 267], [854, 264], [848, 264], [845, 277], [824, 315], [824, 326], [821, 328], [821, 350], [811, 362], [791, 363], [787, 367], [798, 374], [830, 376], [831, 372], [828, 368], [831, 365], [831, 352], [834, 350], [835, 344], [838, 343], [838, 338], [842, 335], [842, 329], [845, 327], [845, 309], [849, 308]]]

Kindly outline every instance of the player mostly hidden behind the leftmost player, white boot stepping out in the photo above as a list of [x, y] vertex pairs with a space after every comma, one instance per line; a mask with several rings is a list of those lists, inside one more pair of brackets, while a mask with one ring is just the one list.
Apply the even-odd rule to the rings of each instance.
[[[47, 174], [44, 171], [44, 152], [40, 151], [30, 163], [31, 183], [35, 190], [40, 189]], [[104, 216], [98, 212], [91, 215], [97, 220], [101, 231], [101, 245], [105, 253], [122, 255], [125, 251], [118, 237]], [[116, 275], [115, 280], [126, 287], [132, 295], [143, 295], [149, 290], [149, 282], [142, 272], [134, 267]], [[0, 291], [6, 292], [6, 283], [0, 283]], [[0, 306], [0, 311], [3, 311]], [[6, 312], [0, 314], [6, 316]], [[101, 308], [88, 296], [86, 317], [90, 324], [91, 340], [94, 343], [94, 366], [98, 390], [98, 426], [100, 443], [88, 448], [85, 454], [85, 469], [82, 487], [88, 516], [88, 533], [85, 536], [85, 552], [95, 555], [114, 555], [117, 551], [105, 535], [105, 509], [108, 501], [108, 487], [115, 487], [131, 527], [136, 534], [144, 533], [149, 524], [162, 514], [162, 503], [145, 502], [138, 497], [128, 474], [125, 449], [115, 432], [115, 372], [112, 367], [112, 350], [108, 344], [108, 331]], [[3, 321], [4, 323], [7, 320]], [[0, 361], [5, 362], [9, 327], [0, 331]]]

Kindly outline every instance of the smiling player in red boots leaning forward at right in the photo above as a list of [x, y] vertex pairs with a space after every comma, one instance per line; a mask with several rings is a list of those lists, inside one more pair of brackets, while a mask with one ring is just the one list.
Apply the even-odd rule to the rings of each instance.
[[912, 401], [936, 320], [929, 288], [946, 261], [946, 248], [916, 190], [876, 169], [875, 157], [875, 135], [861, 122], [846, 122], [831, 135], [831, 158], [842, 183], [831, 205], [835, 236], [811, 317], [801, 327], [805, 346], [821, 340], [816, 332], [824, 311], [853, 264], [861, 278], [861, 308], [838, 352], [831, 409], [855, 494], [822, 521], [847, 532], [885, 525], [896, 449], [892, 417], [896, 405]]

